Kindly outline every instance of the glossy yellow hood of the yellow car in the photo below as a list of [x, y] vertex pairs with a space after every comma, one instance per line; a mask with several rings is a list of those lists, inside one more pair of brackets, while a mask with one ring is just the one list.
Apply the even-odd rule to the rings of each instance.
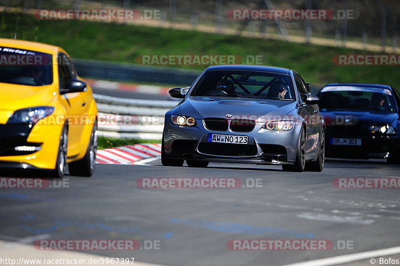
[[17, 109], [45, 106], [55, 97], [53, 85], [28, 86], [0, 82], [0, 123]]

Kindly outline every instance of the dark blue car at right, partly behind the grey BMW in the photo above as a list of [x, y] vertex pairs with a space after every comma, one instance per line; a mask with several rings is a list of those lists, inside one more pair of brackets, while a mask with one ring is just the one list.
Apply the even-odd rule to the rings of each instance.
[[326, 156], [400, 163], [400, 95], [382, 84], [329, 83], [318, 93]]

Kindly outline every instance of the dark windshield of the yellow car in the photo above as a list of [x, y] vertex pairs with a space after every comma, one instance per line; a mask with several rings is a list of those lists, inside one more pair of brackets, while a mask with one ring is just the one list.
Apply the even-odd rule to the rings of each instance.
[[51, 54], [0, 47], [0, 82], [30, 86], [51, 84]]

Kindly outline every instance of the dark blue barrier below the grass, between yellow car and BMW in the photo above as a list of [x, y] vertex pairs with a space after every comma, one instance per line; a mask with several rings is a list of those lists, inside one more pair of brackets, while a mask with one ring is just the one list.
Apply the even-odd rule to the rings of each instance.
[[80, 76], [96, 79], [129, 80], [189, 85], [200, 71], [101, 60], [73, 59]]

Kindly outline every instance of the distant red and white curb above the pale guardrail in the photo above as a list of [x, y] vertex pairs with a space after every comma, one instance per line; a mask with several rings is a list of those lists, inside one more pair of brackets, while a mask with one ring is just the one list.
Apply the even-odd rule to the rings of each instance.
[[85, 79], [85, 81], [93, 88], [135, 91], [135, 92], [149, 93], [149, 94], [168, 94], [168, 90], [171, 89], [170, 87], [128, 84], [128, 83], [120, 83], [107, 80]]

